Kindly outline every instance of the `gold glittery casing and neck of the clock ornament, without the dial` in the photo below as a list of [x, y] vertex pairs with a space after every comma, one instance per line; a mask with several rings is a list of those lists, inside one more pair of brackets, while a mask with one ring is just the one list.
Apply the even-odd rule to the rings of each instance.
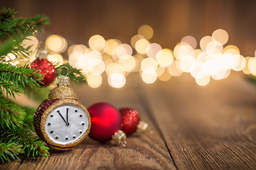
[[[34, 128], [37, 135], [42, 140], [44, 140], [50, 147], [59, 150], [68, 150], [72, 149], [86, 138], [91, 128], [91, 117], [86, 107], [77, 100], [77, 94], [75, 93], [75, 91], [69, 87], [69, 79], [67, 79], [66, 76], [59, 76], [58, 79], [60, 80], [58, 81], [57, 87], [50, 91], [48, 99], [44, 100], [38, 106], [34, 114]], [[88, 128], [86, 129], [86, 131], [76, 141], [67, 144], [54, 143], [45, 132], [46, 118], [49, 116], [52, 110], [62, 104], [74, 104], [80, 107], [85, 112], [88, 119]]]

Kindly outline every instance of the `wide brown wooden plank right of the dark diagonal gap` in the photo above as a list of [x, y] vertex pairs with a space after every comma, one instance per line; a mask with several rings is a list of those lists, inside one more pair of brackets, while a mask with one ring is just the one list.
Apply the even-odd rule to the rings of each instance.
[[256, 89], [232, 74], [208, 87], [188, 74], [146, 87], [178, 169], [256, 168]]

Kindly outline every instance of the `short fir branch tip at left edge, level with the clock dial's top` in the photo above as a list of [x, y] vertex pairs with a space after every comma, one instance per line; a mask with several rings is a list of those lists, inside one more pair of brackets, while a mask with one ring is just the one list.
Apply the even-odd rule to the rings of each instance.
[[0, 97], [0, 123], [2, 128], [11, 129], [15, 126], [22, 126], [25, 116], [25, 109]]

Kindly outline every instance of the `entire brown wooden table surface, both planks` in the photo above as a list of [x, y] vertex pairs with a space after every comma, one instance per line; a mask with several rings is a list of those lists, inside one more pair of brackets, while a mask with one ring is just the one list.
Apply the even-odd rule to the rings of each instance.
[[21, 157], [0, 169], [256, 169], [256, 86], [242, 73], [206, 87], [189, 74], [153, 84], [129, 76], [120, 89], [73, 88], [86, 107], [104, 101], [136, 108], [153, 134], [134, 133], [127, 148], [87, 137], [73, 150]]

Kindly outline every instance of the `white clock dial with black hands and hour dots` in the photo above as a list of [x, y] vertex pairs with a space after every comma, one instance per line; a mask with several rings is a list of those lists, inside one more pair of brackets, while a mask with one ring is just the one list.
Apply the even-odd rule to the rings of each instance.
[[56, 144], [76, 141], [88, 128], [85, 112], [74, 104], [62, 104], [48, 115], [45, 131]]

